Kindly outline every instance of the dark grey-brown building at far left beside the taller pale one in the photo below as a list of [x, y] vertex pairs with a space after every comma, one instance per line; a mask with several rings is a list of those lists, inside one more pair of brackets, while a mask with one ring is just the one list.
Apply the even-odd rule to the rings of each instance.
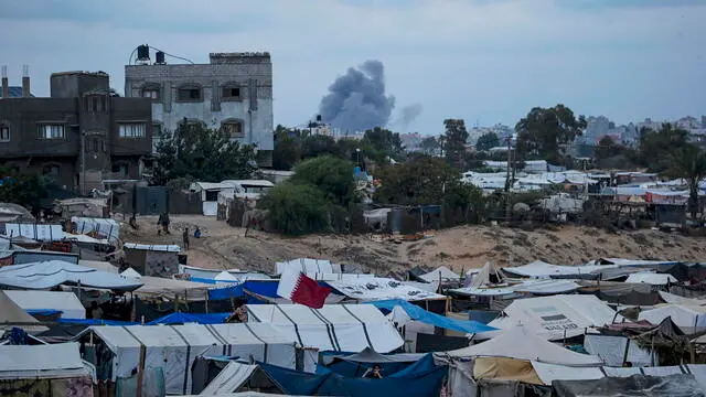
[[29, 77], [22, 86], [21, 97], [0, 99], [1, 165], [81, 192], [140, 176], [151, 154], [150, 99], [115, 96], [103, 72], [52, 74], [50, 97], [31, 97]]

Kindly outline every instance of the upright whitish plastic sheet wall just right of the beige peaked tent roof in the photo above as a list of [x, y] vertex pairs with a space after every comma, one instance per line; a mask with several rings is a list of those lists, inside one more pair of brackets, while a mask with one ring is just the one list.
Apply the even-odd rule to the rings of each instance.
[[625, 361], [632, 363], [633, 366], [657, 363], [656, 356], [650, 354], [650, 351], [640, 347], [638, 342], [624, 336], [587, 334], [584, 339], [584, 346], [588, 353], [601, 357], [607, 365], [611, 366], [622, 366], [625, 347], [628, 347]]

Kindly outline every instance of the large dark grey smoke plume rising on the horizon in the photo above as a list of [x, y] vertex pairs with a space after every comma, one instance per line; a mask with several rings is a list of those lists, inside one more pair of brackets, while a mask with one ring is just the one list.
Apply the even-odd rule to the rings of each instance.
[[395, 97], [385, 95], [384, 71], [383, 63], [374, 60], [357, 68], [349, 67], [321, 98], [322, 121], [350, 131], [385, 127], [395, 108]]

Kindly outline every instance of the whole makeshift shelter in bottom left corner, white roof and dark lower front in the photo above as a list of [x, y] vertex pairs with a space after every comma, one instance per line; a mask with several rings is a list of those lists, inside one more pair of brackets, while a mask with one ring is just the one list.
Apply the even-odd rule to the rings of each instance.
[[0, 396], [69, 395], [93, 397], [78, 343], [0, 346]]

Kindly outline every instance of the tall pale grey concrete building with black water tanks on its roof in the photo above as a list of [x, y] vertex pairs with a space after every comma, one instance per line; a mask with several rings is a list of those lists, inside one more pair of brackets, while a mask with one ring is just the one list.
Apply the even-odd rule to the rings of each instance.
[[184, 119], [223, 128], [233, 139], [255, 143], [261, 165], [271, 164], [269, 53], [211, 53], [208, 64], [173, 65], [164, 62], [163, 53], [150, 63], [148, 53], [138, 62], [125, 66], [125, 96], [152, 100], [156, 129], [174, 131]]

